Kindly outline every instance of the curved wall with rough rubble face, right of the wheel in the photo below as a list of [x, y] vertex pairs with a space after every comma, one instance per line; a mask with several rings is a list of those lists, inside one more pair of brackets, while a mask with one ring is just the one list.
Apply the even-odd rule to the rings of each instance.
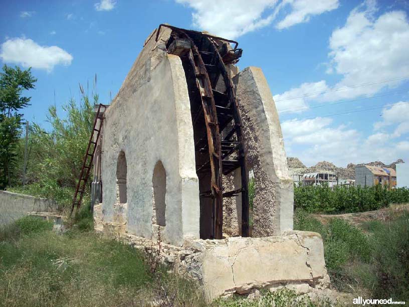
[[[247, 168], [253, 170], [255, 180], [252, 235], [280, 235], [293, 229], [293, 181], [288, 172], [277, 109], [260, 68], [248, 67], [236, 74], [233, 81], [243, 119]], [[240, 176], [240, 172], [234, 176]], [[235, 188], [239, 186], [236, 184]], [[229, 214], [241, 212], [240, 196], [226, 202], [225, 206], [225, 232], [239, 235], [241, 216], [238, 214], [236, 219]], [[232, 231], [234, 229], [236, 231]]]

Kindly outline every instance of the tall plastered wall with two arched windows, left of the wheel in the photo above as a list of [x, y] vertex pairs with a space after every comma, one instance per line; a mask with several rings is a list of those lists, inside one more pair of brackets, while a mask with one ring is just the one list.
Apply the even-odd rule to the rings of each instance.
[[[166, 174], [162, 240], [179, 245], [184, 237], [199, 236], [199, 189], [183, 67], [179, 57], [163, 51], [168, 30], [163, 28], [158, 42], [154, 35], [146, 42], [105, 111], [102, 215], [105, 223], [123, 224], [129, 233], [150, 238], [156, 232], [153, 170], [160, 162]], [[120, 166], [126, 171], [118, 171]]]

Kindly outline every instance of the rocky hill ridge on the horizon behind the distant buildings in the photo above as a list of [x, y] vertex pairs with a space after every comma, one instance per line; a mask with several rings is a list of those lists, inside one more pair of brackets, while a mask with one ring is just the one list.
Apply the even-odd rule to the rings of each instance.
[[[313, 167], [307, 168], [298, 158], [296, 157], [288, 157], [287, 158], [287, 163], [288, 163], [288, 168], [290, 169], [290, 174], [291, 175], [302, 175], [305, 173], [315, 173], [315, 172], [331, 172], [334, 174], [338, 174], [339, 179], [355, 179], [355, 166], [361, 166], [364, 165], [364, 163], [361, 164], [353, 164], [350, 163], [347, 165], [346, 168], [338, 168], [336, 167], [333, 163], [327, 162], [327, 161], [321, 161], [318, 162], [316, 165]], [[391, 164], [384, 164], [380, 161], [374, 161], [370, 163], [365, 163], [366, 165], [371, 165], [371, 166], [379, 166], [379, 167], [386, 167], [386, 168], [392, 168], [396, 169], [396, 164], [397, 163], [403, 163], [402, 159], [398, 159], [396, 162], [393, 162]]]

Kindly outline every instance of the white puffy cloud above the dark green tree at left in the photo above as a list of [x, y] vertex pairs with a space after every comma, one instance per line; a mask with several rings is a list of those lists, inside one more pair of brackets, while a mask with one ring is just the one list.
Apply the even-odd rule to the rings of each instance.
[[31, 39], [13, 38], [1, 45], [0, 58], [6, 63], [51, 72], [56, 65], [68, 66], [73, 57], [57, 46], [40, 46]]

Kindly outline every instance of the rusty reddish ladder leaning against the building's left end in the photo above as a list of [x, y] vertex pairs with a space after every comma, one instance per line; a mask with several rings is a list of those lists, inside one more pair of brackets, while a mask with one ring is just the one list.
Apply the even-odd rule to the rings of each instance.
[[[97, 113], [95, 115], [94, 125], [92, 126], [92, 132], [91, 132], [90, 139], [88, 141], [87, 151], [85, 153], [84, 162], [82, 163], [80, 177], [77, 183], [77, 188], [75, 189], [74, 199], [73, 199], [72, 206], [71, 206], [71, 215], [74, 212], [75, 206], [77, 207], [76, 212], [78, 212], [78, 209], [81, 207], [82, 198], [84, 196], [85, 188], [87, 186], [88, 178], [89, 178], [90, 171], [92, 168], [92, 162], [94, 160], [95, 150], [97, 148], [97, 143], [98, 143], [99, 136], [101, 134], [101, 129], [102, 129], [102, 118], [101, 118], [101, 123], [98, 127], [99, 129], [96, 128], [98, 118], [100, 118], [101, 108], [104, 108], [104, 111], [105, 111], [106, 106], [100, 103], [98, 106]], [[97, 133], [96, 134], [97, 136], [94, 139], [95, 132]]]

